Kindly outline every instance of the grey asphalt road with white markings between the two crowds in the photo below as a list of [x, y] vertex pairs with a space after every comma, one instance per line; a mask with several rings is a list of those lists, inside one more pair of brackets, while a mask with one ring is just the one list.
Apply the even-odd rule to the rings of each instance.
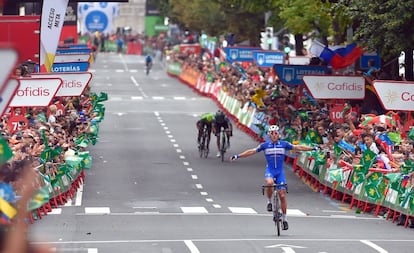
[[[83, 189], [31, 229], [65, 252], [412, 252], [414, 229], [314, 192], [287, 167], [290, 228], [276, 237], [261, 196], [263, 154], [222, 163], [198, 157], [197, 117], [216, 111], [141, 56], [100, 54], [94, 91], [106, 118]], [[230, 154], [257, 146], [234, 131]]]

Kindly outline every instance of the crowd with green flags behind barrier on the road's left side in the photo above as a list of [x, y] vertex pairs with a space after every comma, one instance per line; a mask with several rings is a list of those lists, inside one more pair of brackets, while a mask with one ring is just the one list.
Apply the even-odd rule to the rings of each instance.
[[[25, 65], [14, 74], [30, 77]], [[19, 219], [33, 223], [74, 198], [84, 170], [92, 166], [87, 148], [98, 141], [107, 99], [106, 93], [87, 88], [81, 96], [55, 97], [48, 107], [13, 107], [4, 113], [0, 123], [1, 246], [7, 235], [18, 230]], [[36, 173], [27, 176], [32, 171]]]

